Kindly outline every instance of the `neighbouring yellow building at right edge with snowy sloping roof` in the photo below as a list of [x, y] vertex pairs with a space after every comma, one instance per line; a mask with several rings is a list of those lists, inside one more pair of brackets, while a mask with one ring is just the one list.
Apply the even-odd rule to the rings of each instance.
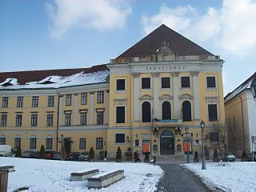
[[241, 151], [249, 154], [253, 149], [255, 151], [251, 136], [256, 135], [256, 104], [250, 90], [250, 83], [254, 77], [256, 73], [225, 97], [229, 148], [234, 154], [241, 154]]

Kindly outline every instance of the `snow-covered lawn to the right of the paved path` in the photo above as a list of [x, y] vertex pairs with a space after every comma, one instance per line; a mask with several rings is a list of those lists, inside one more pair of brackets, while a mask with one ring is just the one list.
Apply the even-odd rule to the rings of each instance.
[[[256, 191], [256, 162], [230, 162], [227, 166], [218, 166], [218, 162], [183, 164], [198, 174], [208, 185], [232, 192]], [[209, 183], [210, 182], [210, 183]]]

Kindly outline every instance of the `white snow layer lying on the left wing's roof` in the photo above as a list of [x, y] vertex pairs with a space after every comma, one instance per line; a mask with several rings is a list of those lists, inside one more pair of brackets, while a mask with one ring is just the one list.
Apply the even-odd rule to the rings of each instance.
[[[25, 85], [18, 84], [16, 78], [6, 78], [6, 81], [0, 84], [2, 90], [18, 90], [18, 89], [44, 89], [44, 88], [61, 88], [66, 86], [79, 86], [100, 82], [107, 82], [106, 78], [109, 75], [109, 70], [99, 70], [93, 73], [84, 73], [70, 76], [49, 76], [38, 82], [26, 82]], [[6, 85], [8, 83], [8, 85]]]

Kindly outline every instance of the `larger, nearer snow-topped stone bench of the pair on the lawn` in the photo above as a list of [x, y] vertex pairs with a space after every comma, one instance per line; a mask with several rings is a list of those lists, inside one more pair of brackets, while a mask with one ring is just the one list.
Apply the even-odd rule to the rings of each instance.
[[110, 186], [112, 183], [117, 182], [124, 177], [124, 170], [108, 171], [94, 177], [87, 178], [87, 186], [88, 188], [102, 188]]

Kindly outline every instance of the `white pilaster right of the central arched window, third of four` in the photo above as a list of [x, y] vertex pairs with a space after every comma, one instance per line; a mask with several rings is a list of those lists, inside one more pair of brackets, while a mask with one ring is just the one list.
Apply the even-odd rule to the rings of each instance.
[[180, 107], [179, 107], [179, 100], [178, 100], [178, 72], [173, 73], [174, 79], [174, 118], [179, 119], [180, 116]]

